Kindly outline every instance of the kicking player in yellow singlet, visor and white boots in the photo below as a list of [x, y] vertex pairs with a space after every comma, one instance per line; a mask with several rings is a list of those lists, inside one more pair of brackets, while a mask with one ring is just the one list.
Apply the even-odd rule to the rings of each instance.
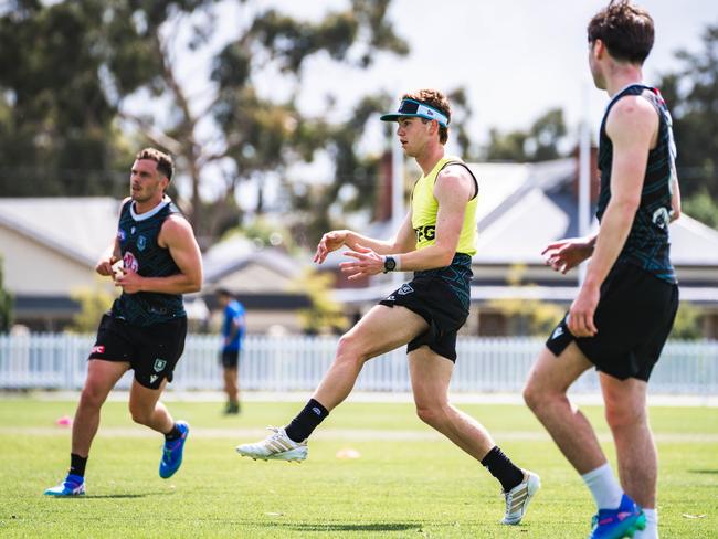
[[342, 246], [350, 261], [341, 263], [349, 279], [393, 271], [414, 278], [374, 306], [339, 340], [334, 363], [313, 398], [285, 427], [255, 444], [240, 445], [243, 456], [303, 461], [307, 438], [351, 392], [365, 362], [408, 345], [409, 369], [422, 421], [481, 462], [501, 484], [506, 499], [504, 524], [520, 522], [540, 486], [536, 474], [516, 466], [473, 418], [448, 402], [448, 383], [456, 360], [456, 332], [469, 307], [472, 255], [475, 250], [478, 183], [463, 161], [444, 155], [451, 107], [434, 89], [406, 94], [397, 113], [404, 152], [423, 175], [416, 181], [411, 209], [391, 241], [372, 240], [348, 230], [327, 232], [315, 262]]

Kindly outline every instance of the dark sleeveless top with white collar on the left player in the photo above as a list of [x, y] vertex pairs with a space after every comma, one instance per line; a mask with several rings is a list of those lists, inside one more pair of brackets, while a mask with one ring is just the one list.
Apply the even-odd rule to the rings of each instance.
[[[169, 197], [152, 210], [140, 215], [135, 213], [133, 200], [123, 204], [119, 213], [117, 240], [125, 267], [144, 277], [167, 277], [180, 273], [168, 249], [157, 244], [157, 236], [165, 220], [180, 214]], [[123, 294], [115, 299], [112, 314], [136, 326], [151, 326], [175, 318], [186, 317], [181, 294], [138, 292]]]

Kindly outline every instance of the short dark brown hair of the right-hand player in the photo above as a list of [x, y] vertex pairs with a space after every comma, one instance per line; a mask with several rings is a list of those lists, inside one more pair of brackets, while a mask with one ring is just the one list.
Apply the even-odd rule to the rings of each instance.
[[643, 64], [653, 47], [653, 19], [630, 0], [611, 0], [588, 28], [589, 43], [601, 40], [615, 60]]

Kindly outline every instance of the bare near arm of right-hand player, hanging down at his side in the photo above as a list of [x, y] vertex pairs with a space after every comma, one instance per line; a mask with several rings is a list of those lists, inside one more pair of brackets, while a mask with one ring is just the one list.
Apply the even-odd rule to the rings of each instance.
[[571, 305], [569, 329], [577, 337], [596, 334], [593, 314], [600, 287], [625, 244], [636, 210], [648, 162], [648, 151], [658, 117], [641, 97], [624, 97], [609, 114], [606, 134], [613, 142], [611, 200], [603, 213], [585, 281]]

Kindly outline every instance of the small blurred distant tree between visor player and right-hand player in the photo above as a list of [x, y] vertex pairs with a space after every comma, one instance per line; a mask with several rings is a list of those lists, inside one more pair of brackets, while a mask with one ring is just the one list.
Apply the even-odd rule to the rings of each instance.
[[561, 157], [561, 144], [566, 138], [563, 110], [552, 108], [540, 116], [528, 131], [500, 133], [489, 130], [489, 142], [484, 159], [489, 161], [547, 161]]

